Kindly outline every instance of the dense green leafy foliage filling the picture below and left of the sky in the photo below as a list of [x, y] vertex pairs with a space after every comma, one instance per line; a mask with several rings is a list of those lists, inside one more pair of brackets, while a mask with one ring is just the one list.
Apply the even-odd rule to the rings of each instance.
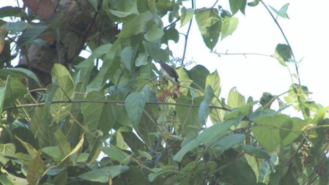
[[[0, 8], [0, 182], [327, 184], [329, 107], [310, 101], [307, 87], [293, 83], [259, 101], [235, 88], [221, 97], [217, 71], [187, 70], [183, 57], [177, 84], [156, 68], [193, 20], [212, 50], [234, 32], [239, 11], [264, 6], [275, 22], [288, 17], [288, 4], [214, 3], [25, 0]], [[90, 57], [78, 57], [86, 48]], [[288, 42], [271, 57], [298, 73]], [[303, 118], [282, 114], [288, 106]]]

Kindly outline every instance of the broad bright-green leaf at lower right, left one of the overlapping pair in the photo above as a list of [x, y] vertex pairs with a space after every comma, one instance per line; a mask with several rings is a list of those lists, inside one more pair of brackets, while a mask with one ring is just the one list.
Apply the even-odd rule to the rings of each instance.
[[280, 128], [289, 120], [290, 118], [283, 114], [261, 116], [254, 121], [253, 136], [268, 152], [272, 152], [283, 139], [280, 137]]

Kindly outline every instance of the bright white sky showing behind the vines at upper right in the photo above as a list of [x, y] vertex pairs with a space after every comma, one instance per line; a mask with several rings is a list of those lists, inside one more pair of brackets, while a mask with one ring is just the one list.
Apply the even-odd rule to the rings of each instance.
[[[214, 2], [215, 0], [196, 1], [196, 7], [210, 7]], [[219, 2], [224, 9], [229, 10], [228, 1]], [[299, 65], [301, 83], [313, 93], [311, 97], [314, 101], [323, 106], [329, 105], [329, 22], [326, 13], [329, 2], [267, 0], [265, 3], [278, 10], [284, 4], [290, 3], [287, 11], [290, 19], [279, 17], [278, 21], [293, 48], [296, 60], [304, 57]], [[0, 7], [8, 5], [16, 6], [16, 1], [0, 0]], [[189, 7], [190, 1], [184, 2], [184, 5]], [[285, 44], [279, 28], [261, 3], [257, 7], [247, 6], [245, 12], [246, 16], [241, 12], [234, 15], [239, 18], [237, 29], [231, 36], [218, 41], [214, 50], [221, 53], [227, 51], [273, 54], [277, 44]], [[180, 26], [180, 23], [177, 26]], [[186, 33], [187, 27], [188, 24], [180, 32]], [[180, 42], [172, 42], [170, 45], [174, 57], [182, 57], [183, 46], [184, 37], [180, 35]], [[278, 95], [287, 91], [291, 85], [288, 70], [275, 59], [256, 55], [247, 55], [247, 58], [243, 55], [217, 57], [216, 54], [210, 53], [195, 22], [190, 31], [186, 58], [206, 66], [210, 72], [217, 68], [221, 77], [223, 98], [227, 98], [232, 87], [236, 87], [246, 98], [252, 96], [254, 100], [259, 100], [264, 91]], [[294, 65], [290, 66], [290, 70], [296, 73]], [[283, 97], [281, 99], [283, 100]], [[285, 113], [295, 115], [289, 110]]]

